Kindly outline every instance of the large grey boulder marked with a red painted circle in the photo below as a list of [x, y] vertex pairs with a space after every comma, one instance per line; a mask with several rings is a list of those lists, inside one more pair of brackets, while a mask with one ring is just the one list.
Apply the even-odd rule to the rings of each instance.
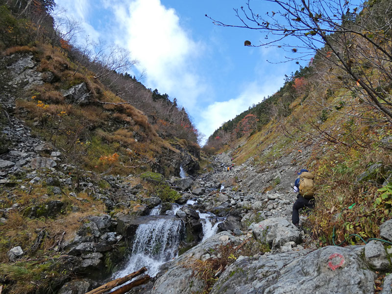
[[327, 246], [238, 258], [211, 294], [369, 294], [375, 273], [362, 259], [364, 246]]

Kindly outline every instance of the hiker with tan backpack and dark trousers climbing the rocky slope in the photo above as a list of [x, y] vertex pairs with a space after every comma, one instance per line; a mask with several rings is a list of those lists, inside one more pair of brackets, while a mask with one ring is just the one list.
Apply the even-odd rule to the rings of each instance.
[[315, 176], [312, 172], [302, 169], [297, 173], [299, 177], [294, 182], [294, 191], [299, 192], [297, 195], [297, 200], [293, 205], [293, 215], [292, 222], [298, 227], [299, 226], [299, 209], [303, 207], [314, 208], [314, 195], [315, 186], [313, 179]]

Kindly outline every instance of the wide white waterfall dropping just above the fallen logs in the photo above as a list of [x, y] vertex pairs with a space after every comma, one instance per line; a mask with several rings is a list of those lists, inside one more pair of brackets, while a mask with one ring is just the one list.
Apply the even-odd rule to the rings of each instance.
[[[155, 207], [151, 214], [157, 213], [158, 209], [160, 208]], [[125, 269], [116, 273], [115, 278], [142, 267], [147, 267], [147, 274], [155, 276], [162, 264], [176, 257], [183, 227], [181, 220], [168, 219], [167, 216], [140, 224], [135, 233], [130, 259]]]

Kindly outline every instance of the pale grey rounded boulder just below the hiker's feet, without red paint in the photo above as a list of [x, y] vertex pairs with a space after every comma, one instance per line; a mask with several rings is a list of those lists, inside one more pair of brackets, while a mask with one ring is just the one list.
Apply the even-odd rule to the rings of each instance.
[[253, 235], [261, 242], [268, 243], [271, 248], [280, 247], [288, 242], [301, 242], [300, 231], [283, 218], [272, 218], [258, 223], [252, 223], [249, 226]]

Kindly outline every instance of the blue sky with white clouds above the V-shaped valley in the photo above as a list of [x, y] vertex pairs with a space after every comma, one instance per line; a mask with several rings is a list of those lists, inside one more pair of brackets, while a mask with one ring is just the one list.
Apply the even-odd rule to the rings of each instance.
[[134, 74], [145, 71], [147, 88], [177, 98], [206, 138], [298, 69], [294, 62], [267, 62], [284, 60], [284, 51], [244, 46], [245, 40], [258, 44], [260, 32], [216, 26], [205, 17], [234, 24], [233, 8], [245, 0], [55, 1], [91, 39], [129, 49], [139, 62]]

